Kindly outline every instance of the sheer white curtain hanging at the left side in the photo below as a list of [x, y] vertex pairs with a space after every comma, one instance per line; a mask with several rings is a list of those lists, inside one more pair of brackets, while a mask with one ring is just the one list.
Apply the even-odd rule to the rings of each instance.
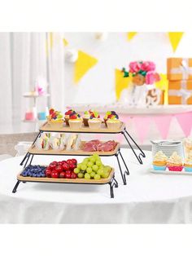
[[63, 65], [62, 33], [0, 33], [0, 123], [24, 118], [33, 102], [22, 95], [38, 77], [48, 83], [49, 105], [63, 110]]

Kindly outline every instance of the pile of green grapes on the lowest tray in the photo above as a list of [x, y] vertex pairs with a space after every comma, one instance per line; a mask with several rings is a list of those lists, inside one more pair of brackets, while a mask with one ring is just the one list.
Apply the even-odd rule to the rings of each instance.
[[77, 174], [77, 177], [80, 179], [108, 178], [110, 172], [111, 166], [104, 166], [101, 158], [97, 154], [91, 157], [85, 157], [74, 169], [74, 173]]

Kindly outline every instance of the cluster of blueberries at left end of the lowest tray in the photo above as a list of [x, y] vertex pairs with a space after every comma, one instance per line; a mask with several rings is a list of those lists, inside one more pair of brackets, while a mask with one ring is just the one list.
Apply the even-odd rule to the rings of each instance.
[[45, 174], [46, 167], [45, 166], [27, 166], [21, 173], [21, 176], [24, 177], [46, 177]]

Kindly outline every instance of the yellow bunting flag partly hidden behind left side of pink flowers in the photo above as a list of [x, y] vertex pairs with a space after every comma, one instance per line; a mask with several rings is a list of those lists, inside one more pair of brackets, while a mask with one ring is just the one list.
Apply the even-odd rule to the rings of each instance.
[[124, 73], [116, 68], [116, 99], [120, 99], [122, 90], [128, 88], [131, 77], [124, 77]]

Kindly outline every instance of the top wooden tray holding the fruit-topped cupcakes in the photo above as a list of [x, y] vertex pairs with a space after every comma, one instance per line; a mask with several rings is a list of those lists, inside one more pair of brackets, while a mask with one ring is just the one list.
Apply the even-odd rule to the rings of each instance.
[[66, 126], [65, 122], [62, 128], [57, 128], [55, 126], [51, 126], [50, 124], [44, 123], [39, 130], [46, 132], [68, 132], [68, 133], [95, 133], [95, 134], [119, 134], [124, 130], [124, 122], [122, 122], [120, 129], [118, 130], [109, 130], [105, 123], [102, 123], [102, 126], [98, 130], [90, 129], [89, 126], [82, 126], [80, 129], [73, 130], [69, 126]]

